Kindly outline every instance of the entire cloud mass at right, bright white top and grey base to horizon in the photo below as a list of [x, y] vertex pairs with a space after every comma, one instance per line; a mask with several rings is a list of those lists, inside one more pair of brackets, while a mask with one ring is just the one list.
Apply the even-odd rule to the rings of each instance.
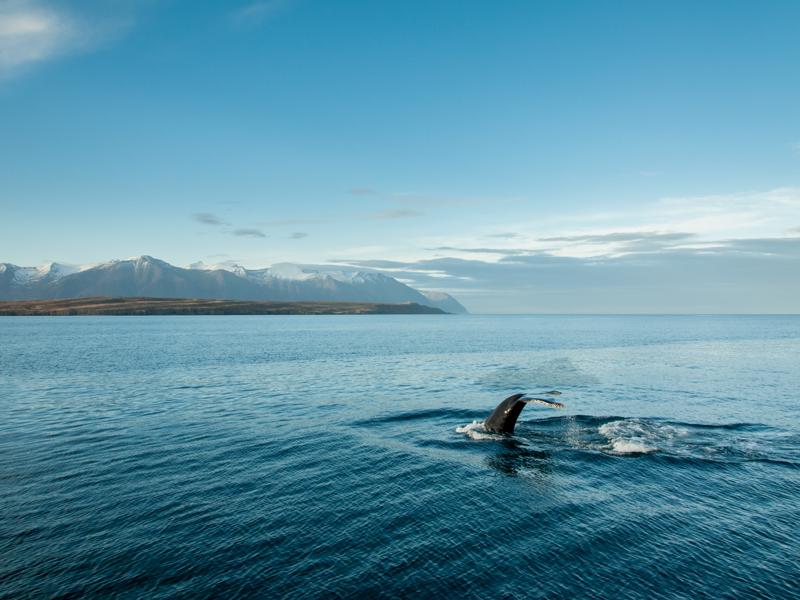
[[[789, 313], [800, 310], [800, 227], [787, 224], [798, 222], [798, 188], [670, 197], [464, 234], [424, 245], [424, 258], [340, 262], [477, 311]], [[487, 238], [498, 244], [469, 244]]]

